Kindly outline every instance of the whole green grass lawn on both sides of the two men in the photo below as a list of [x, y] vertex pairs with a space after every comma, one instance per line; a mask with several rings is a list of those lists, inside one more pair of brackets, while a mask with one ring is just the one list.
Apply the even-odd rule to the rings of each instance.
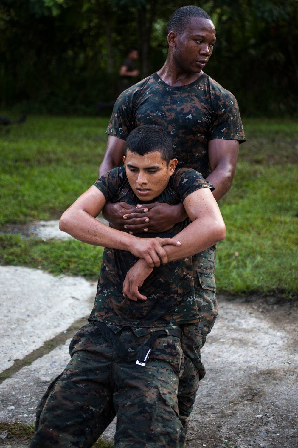
[[[0, 132], [0, 224], [50, 219], [97, 178], [108, 119], [29, 117]], [[235, 180], [220, 202], [218, 291], [297, 296], [298, 121], [244, 121]], [[0, 237], [0, 263], [95, 279], [102, 250], [79, 241]]]

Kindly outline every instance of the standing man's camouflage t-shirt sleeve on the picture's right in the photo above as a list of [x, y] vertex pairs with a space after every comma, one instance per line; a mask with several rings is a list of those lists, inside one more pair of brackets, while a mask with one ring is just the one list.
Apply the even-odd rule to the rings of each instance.
[[245, 142], [239, 106], [235, 96], [228, 90], [213, 92], [213, 117], [210, 127], [210, 140], [239, 140]]

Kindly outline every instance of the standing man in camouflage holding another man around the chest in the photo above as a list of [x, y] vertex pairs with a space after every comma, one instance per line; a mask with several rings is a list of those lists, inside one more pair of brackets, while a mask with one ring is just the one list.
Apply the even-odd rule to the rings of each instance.
[[[105, 157], [99, 177], [122, 165], [126, 138], [134, 128], [161, 126], [172, 140], [177, 168], [194, 168], [214, 185], [219, 201], [231, 188], [239, 143], [245, 140], [235, 97], [203, 72], [216, 42], [210, 16], [197, 6], [184, 6], [171, 16], [168, 57], [164, 66], [123, 92], [109, 122]], [[164, 232], [185, 219], [183, 204], [108, 203], [105, 218], [129, 233]], [[200, 322], [185, 326], [193, 340], [193, 359], [185, 358], [179, 382], [179, 417], [187, 431], [199, 379], [205, 374], [200, 349], [218, 314], [215, 298], [216, 246], [193, 256], [194, 287]]]

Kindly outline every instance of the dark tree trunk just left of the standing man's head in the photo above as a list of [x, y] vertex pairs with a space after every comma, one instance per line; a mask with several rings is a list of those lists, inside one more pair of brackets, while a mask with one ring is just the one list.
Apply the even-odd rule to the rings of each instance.
[[151, 73], [151, 52], [150, 41], [152, 33], [152, 24], [155, 18], [157, 0], [149, 0], [145, 5], [138, 8], [137, 23], [138, 23], [138, 38], [139, 38], [139, 53], [140, 53], [140, 72], [141, 77]]

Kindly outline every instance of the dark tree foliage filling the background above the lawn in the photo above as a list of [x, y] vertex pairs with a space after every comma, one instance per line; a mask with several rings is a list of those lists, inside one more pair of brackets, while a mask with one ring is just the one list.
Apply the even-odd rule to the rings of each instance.
[[[141, 77], [167, 55], [178, 0], [1, 0], [0, 102], [27, 111], [92, 112], [117, 96], [127, 49]], [[298, 115], [298, 1], [194, 1], [217, 30], [206, 66], [246, 115]]]

